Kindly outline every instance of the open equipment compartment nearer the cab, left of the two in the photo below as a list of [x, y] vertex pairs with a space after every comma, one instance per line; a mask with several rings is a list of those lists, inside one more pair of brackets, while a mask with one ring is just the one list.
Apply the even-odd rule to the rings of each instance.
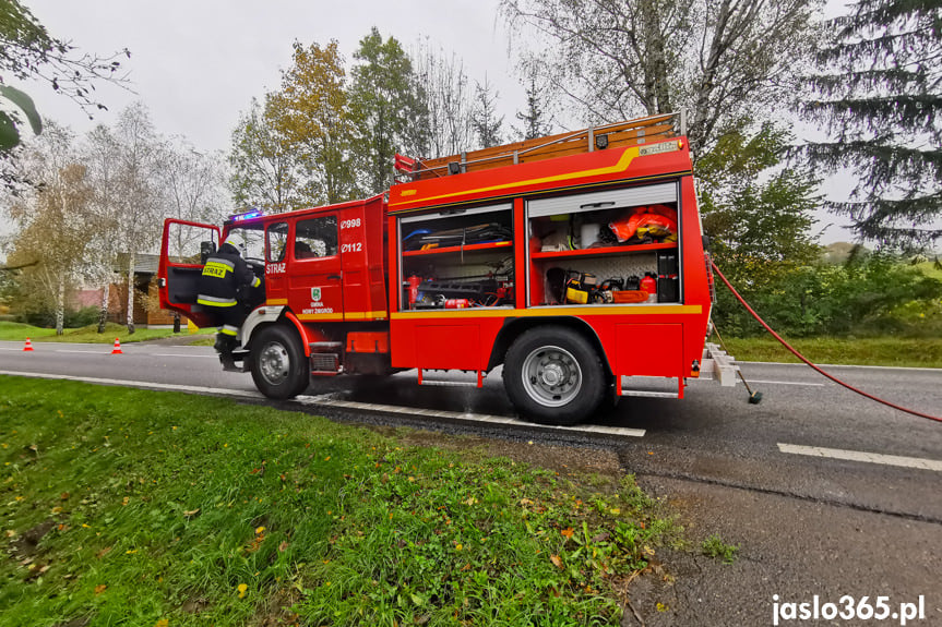
[[513, 308], [513, 205], [398, 218], [400, 311]]

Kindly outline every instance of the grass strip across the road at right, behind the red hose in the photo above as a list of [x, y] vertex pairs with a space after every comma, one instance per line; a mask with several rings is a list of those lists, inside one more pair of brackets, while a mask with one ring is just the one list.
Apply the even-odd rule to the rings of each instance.
[[[724, 337], [738, 361], [800, 363], [775, 338]], [[942, 338], [807, 338], [791, 340], [814, 363], [942, 367]], [[715, 340], [711, 340], [715, 341]]]

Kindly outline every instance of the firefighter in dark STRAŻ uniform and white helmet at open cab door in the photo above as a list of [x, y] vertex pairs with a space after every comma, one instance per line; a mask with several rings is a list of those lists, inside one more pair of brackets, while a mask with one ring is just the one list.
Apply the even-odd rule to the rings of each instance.
[[239, 292], [248, 292], [245, 288], [257, 288], [262, 282], [242, 258], [240, 249], [243, 246], [241, 237], [230, 233], [219, 250], [210, 255], [203, 266], [196, 297], [196, 302], [215, 315], [218, 326], [215, 349], [226, 370], [236, 370], [232, 350], [238, 345], [236, 335], [246, 318]]

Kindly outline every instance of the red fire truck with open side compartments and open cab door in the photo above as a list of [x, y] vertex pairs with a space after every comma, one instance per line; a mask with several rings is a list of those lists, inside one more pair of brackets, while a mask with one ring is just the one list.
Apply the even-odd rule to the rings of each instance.
[[[245, 296], [236, 360], [270, 398], [321, 376], [405, 370], [419, 385], [462, 371], [481, 387], [498, 366], [520, 413], [545, 423], [620, 396], [683, 397], [700, 374], [712, 277], [679, 116], [405, 169], [366, 200], [242, 214], [222, 229], [166, 220], [160, 305], [212, 326], [196, 279], [239, 231], [264, 281]], [[631, 377], [668, 386], [635, 389]]]

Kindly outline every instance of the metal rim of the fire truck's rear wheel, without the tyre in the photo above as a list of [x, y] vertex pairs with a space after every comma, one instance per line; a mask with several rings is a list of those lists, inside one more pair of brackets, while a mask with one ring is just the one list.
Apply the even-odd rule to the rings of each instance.
[[544, 407], [562, 407], [582, 389], [582, 369], [571, 352], [557, 346], [532, 351], [521, 371], [526, 394]]

